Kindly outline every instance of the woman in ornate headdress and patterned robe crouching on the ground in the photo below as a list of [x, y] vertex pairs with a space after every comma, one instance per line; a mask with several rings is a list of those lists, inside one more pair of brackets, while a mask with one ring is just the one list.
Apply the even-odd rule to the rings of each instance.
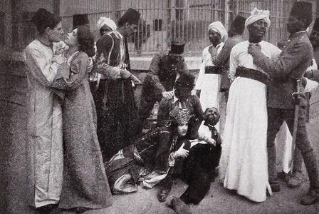
[[175, 159], [187, 156], [187, 150], [174, 151], [177, 151], [175, 148], [178, 145], [181, 147], [179, 140], [187, 133], [189, 112], [174, 108], [169, 116], [170, 120], [165, 126], [137, 139], [105, 163], [113, 194], [136, 192], [142, 175], [147, 175], [142, 180], [143, 185], [152, 188], [166, 177]]

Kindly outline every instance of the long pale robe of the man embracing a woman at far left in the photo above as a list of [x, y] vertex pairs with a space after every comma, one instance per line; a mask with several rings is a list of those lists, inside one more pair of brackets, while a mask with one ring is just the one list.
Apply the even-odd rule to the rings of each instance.
[[52, 63], [56, 45], [37, 39], [24, 50], [28, 78], [28, 203], [57, 204], [63, 180], [62, 108], [51, 84], [58, 64]]

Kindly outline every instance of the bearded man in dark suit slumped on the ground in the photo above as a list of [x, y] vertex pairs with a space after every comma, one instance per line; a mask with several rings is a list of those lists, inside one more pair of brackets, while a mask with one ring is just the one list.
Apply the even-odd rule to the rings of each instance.
[[[175, 198], [174, 201], [179, 201], [179, 203], [171, 203], [175, 211], [178, 208], [177, 204], [185, 207], [185, 204], [198, 204], [209, 191], [211, 180], [214, 180], [216, 176], [215, 170], [221, 156], [221, 137], [214, 127], [219, 122], [219, 117], [216, 108], [207, 108], [204, 113], [204, 126], [207, 128], [204, 140], [212, 138], [214, 142], [206, 143], [198, 139], [194, 141], [180, 140], [184, 142], [184, 148], [189, 150], [189, 155], [187, 154], [184, 160], [177, 159], [174, 167], [169, 169], [168, 175], [162, 181], [162, 188], [157, 195], [158, 200], [166, 200], [172, 189], [172, 181], [176, 178], [182, 178], [185, 183], [189, 184], [182, 196]], [[177, 148], [179, 147], [177, 146]], [[174, 153], [179, 153], [179, 150]]]

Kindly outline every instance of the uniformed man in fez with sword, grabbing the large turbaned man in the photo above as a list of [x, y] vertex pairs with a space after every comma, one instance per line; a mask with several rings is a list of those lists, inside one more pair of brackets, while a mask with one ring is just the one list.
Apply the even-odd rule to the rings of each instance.
[[296, 134], [296, 148], [298, 148], [305, 162], [305, 168], [310, 180], [310, 189], [303, 195], [301, 204], [312, 205], [318, 203], [319, 174], [318, 165], [305, 127], [305, 96], [300, 94], [298, 101], [293, 101], [292, 93], [297, 91], [297, 80], [303, 75], [313, 59], [313, 47], [308, 39], [306, 29], [312, 21], [312, 5], [310, 2], [296, 1], [291, 9], [287, 23], [290, 33], [288, 42], [276, 59], [269, 59], [261, 53], [258, 44], [250, 44], [248, 51], [253, 56], [253, 63], [266, 71], [272, 78], [268, 84], [268, 174], [269, 183], [273, 191], [279, 191], [276, 172], [276, 146], [274, 140], [279, 128], [286, 121], [293, 133], [294, 108], [300, 106], [298, 112], [298, 128]]

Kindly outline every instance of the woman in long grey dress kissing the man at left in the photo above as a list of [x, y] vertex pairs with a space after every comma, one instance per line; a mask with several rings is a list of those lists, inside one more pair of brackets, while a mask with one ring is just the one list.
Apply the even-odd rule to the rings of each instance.
[[[68, 78], [61, 71], [53, 87], [65, 93], [63, 101], [64, 173], [59, 208], [77, 211], [106, 208], [112, 196], [96, 134], [96, 113], [88, 82], [89, 56], [94, 41], [90, 29], [80, 26], [68, 34]], [[61, 74], [61, 75], [60, 75]]]

